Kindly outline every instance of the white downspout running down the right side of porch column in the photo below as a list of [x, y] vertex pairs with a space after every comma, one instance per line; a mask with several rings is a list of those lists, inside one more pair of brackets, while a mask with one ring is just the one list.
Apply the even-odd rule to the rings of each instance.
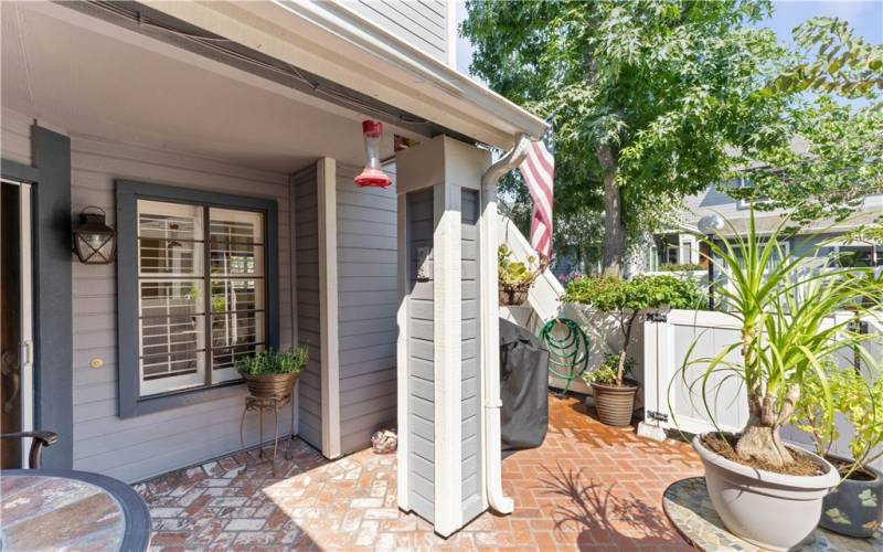
[[500, 454], [500, 296], [497, 288], [497, 182], [528, 155], [530, 139], [520, 134], [515, 146], [481, 176], [481, 388], [485, 406], [485, 493], [499, 513], [512, 513], [514, 501], [503, 495]]

